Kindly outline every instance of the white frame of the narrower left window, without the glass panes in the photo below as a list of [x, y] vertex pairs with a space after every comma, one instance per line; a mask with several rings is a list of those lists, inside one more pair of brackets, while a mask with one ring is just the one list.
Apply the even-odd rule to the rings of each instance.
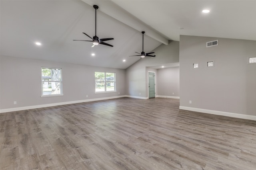
[[[60, 81], [52, 81], [52, 80], [46, 80], [43, 81], [43, 75], [42, 75], [42, 69], [46, 68], [46, 69], [58, 69], [60, 70]], [[43, 89], [43, 83], [44, 82], [60, 82], [60, 94], [44, 94], [44, 89]], [[55, 97], [55, 96], [63, 96], [63, 92], [62, 92], [62, 68], [54, 68], [54, 67], [41, 67], [41, 97], [45, 98], [45, 97]]]

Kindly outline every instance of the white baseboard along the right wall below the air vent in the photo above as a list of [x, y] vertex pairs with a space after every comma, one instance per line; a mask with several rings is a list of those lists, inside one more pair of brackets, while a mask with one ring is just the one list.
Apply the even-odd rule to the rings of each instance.
[[249, 120], [255, 120], [256, 121], [256, 116], [254, 116], [254, 115], [243, 115], [243, 114], [239, 114], [239, 113], [230, 113], [230, 112], [224, 112], [224, 111], [199, 109], [199, 108], [186, 107], [186, 106], [180, 106], [180, 109], [189, 110], [189, 111], [196, 111], [196, 112], [201, 112], [201, 113], [208, 113], [208, 114], [213, 114], [213, 115], [236, 117], [236, 118], [240, 118], [240, 119], [249, 119]]

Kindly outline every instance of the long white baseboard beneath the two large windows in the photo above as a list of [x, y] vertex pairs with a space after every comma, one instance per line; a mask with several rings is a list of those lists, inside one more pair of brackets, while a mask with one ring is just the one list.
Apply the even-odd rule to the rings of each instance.
[[108, 99], [124, 98], [124, 97], [126, 97], [126, 95], [107, 97], [107, 98], [77, 100], [77, 101], [70, 101], [70, 102], [60, 102], [60, 103], [53, 103], [53, 104], [42, 104], [42, 105], [35, 105], [35, 106], [15, 107], [15, 108], [10, 108], [10, 109], [0, 109], [0, 113], [11, 112], [11, 111], [20, 111], [20, 110], [28, 110], [28, 109], [36, 109], [36, 108], [42, 108], [42, 107], [60, 106], [60, 105], [65, 105], [65, 104], [93, 102], [93, 101], [98, 101], [98, 100], [108, 100]]

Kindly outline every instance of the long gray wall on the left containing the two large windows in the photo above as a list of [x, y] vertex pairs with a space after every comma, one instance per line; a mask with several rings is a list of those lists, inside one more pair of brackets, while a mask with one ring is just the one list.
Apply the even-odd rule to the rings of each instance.
[[[42, 66], [62, 68], [64, 96], [40, 97]], [[95, 71], [116, 72], [116, 92], [95, 94]], [[126, 88], [124, 69], [54, 63], [18, 57], [1, 56], [0, 74], [0, 109], [122, 96], [125, 95]], [[13, 104], [14, 101], [17, 101], [16, 105]]]

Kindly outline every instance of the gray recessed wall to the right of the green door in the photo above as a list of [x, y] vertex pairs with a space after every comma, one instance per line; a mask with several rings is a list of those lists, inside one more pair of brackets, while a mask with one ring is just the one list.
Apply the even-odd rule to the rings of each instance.
[[180, 67], [157, 69], [157, 85], [158, 96], [180, 97]]

